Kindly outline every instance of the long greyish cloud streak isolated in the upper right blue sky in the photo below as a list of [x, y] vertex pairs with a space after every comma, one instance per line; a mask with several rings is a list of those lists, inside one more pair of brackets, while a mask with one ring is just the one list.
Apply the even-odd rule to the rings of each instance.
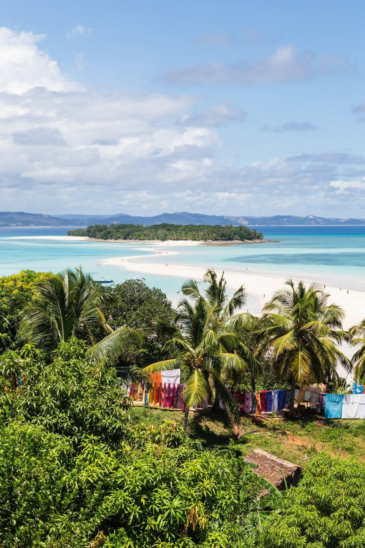
[[293, 45], [281, 45], [266, 59], [255, 63], [209, 61], [168, 73], [169, 83], [256, 85], [311, 80], [335, 72], [354, 72], [344, 56], [298, 53]]

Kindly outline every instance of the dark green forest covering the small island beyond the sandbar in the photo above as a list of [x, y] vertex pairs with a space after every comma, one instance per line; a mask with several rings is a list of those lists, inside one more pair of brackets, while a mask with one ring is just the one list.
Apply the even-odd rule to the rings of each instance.
[[92, 225], [84, 229], [68, 230], [68, 236], [88, 236], [98, 239], [120, 240], [213, 240], [245, 241], [263, 239], [262, 232], [251, 230], [247, 226], [232, 225]]

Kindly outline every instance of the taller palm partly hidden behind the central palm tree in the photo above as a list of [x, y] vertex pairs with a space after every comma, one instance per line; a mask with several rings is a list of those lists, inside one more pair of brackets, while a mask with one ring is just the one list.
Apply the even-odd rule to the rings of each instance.
[[[208, 269], [204, 275], [204, 281], [208, 284], [205, 289], [205, 297], [202, 297], [198, 284], [193, 279], [188, 279], [183, 283], [181, 292], [188, 296], [193, 302], [198, 302], [201, 298], [205, 298], [207, 306], [214, 310], [215, 319], [218, 326], [223, 329], [229, 329], [239, 338], [239, 346], [235, 344], [231, 348], [227, 347], [228, 351], [238, 353], [242, 358], [244, 369], [236, 370], [235, 368], [226, 368], [222, 371], [221, 380], [225, 383], [229, 378], [234, 381], [239, 381], [239, 375], [248, 370], [251, 374], [252, 384], [254, 379], [263, 373], [260, 361], [248, 349], [247, 345], [242, 342], [242, 332], [252, 331], [256, 318], [248, 312], [240, 312], [240, 309], [246, 305], [246, 290], [244, 286], [239, 287], [234, 294], [229, 298], [226, 293], [227, 282], [224, 279], [222, 272], [219, 280], [217, 273], [213, 269]], [[213, 410], [219, 408], [219, 390], [216, 391]]]

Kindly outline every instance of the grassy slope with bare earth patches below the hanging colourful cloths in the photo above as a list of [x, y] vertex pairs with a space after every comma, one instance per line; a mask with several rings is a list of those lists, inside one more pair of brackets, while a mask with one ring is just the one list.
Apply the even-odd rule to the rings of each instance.
[[[164, 419], [182, 420], [182, 413], [169, 409], [134, 408], [137, 420], [153, 424]], [[244, 418], [239, 441], [224, 414], [192, 413], [188, 433], [198, 438], [208, 448], [228, 447], [234, 439], [236, 449], [246, 455], [253, 449], [265, 449], [292, 463], [305, 465], [306, 458], [318, 451], [338, 455], [340, 435], [341, 456], [356, 456], [365, 461], [365, 420], [337, 420], [328, 423], [318, 416], [289, 421], [282, 418]]]

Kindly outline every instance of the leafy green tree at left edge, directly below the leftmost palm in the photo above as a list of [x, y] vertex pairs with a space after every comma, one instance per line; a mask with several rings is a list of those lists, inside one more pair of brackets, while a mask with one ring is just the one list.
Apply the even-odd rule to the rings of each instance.
[[22, 418], [76, 444], [85, 435], [120, 441], [128, 420], [126, 393], [115, 369], [95, 365], [87, 350], [83, 341], [70, 339], [49, 361], [33, 345], [0, 355], [0, 386], [7, 387], [0, 418]]

